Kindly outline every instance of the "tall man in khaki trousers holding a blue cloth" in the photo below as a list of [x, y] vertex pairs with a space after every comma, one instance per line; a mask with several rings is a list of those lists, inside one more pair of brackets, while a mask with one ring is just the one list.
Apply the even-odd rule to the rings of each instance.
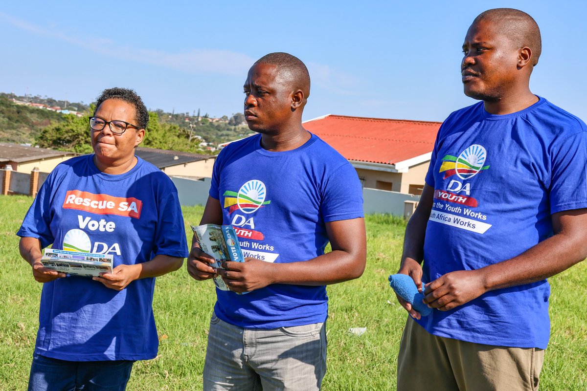
[[587, 256], [586, 125], [529, 90], [540, 52], [537, 23], [516, 9], [485, 11], [467, 31], [464, 92], [481, 101], [438, 130], [406, 228], [399, 273], [434, 310], [399, 299], [411, 315], [400, 391], [538, 387], [546, 278]]

